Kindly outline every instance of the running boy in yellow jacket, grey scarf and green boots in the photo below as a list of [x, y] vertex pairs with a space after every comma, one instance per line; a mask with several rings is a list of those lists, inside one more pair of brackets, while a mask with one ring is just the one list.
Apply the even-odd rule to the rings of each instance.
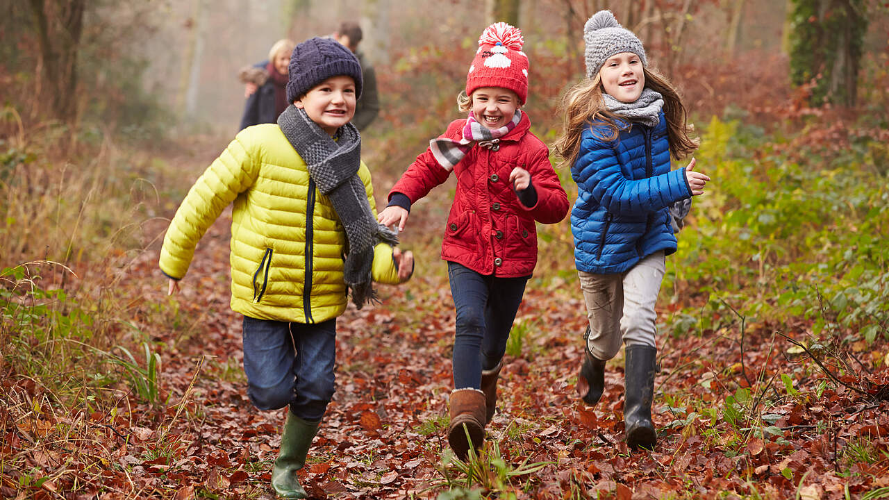
[[167, 230], [160, 268], [172, 294], [197, 240], [234, 202], [231, 307], [244, 314], [248, 395], [260, 409], [290, 406], [272, 487], [304, 498], [296, 471], [333, 395], [347, 289], [360, 309], [375, 297], [372, 280], [410, 278], [413, 256], [393, 247], [395, 234], [374, 216], [361, 138], [349, 123], [362, 87], [355, 56], [315, 37], [293, 49], [288, 70], [292, 106], [277, 125], [238, 133], [196, 181]]

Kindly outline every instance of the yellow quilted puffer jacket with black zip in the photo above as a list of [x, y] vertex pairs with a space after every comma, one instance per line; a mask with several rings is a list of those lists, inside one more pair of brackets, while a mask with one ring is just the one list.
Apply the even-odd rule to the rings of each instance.
[[[376, 214], [371, 173], [361, 163]], [[308, 176], [308, 168], [276, 124], [238, 133], [182, 201], [161, 249], [160, 268], [182, 278], [197, 241], [229, 203], [231, 308], [257, 319], [319, 323], [346, 309], [346, 232]], [[392, 247], [374, 249], [373, 279], [395, 284]]]

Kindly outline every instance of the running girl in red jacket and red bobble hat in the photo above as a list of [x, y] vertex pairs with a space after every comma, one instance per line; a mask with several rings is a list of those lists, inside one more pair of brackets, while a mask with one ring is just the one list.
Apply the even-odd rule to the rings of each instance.
[[485, 28], [457, 100], [469, 117], [429, 141], [378, 218], [404, 230], [411, 205], [456, 174], [442, 259], [457, 311], [448, 442], [461, 458], [481, 447], [494, 413], [509, 330], [537, 262], [534, 222], [556, 223], [568, 212], [549, 149], [520, 109], [528, 93], [522, 44], [505, 22]]

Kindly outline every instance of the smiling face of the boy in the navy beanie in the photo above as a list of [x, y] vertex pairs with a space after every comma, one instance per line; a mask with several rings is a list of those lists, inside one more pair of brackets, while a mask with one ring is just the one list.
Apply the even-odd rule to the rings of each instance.
[[339, 75], [315, 85], [293, 105], [305, 109], [313, 122], [333, 136], [355, 115], [355, 101], [355, 80]]

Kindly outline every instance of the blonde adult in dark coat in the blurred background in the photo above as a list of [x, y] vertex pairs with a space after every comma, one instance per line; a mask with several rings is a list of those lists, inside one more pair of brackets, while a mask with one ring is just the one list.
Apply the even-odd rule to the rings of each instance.
[[278, 115], [287, 108], [287, 67], [295, 46], [292, 40], [282, 38], [268, 50], [267, 63], [247, 66], [238, 72], [244, 84], [253, 85], [238, 130], [251, 125], [277, 123]]

